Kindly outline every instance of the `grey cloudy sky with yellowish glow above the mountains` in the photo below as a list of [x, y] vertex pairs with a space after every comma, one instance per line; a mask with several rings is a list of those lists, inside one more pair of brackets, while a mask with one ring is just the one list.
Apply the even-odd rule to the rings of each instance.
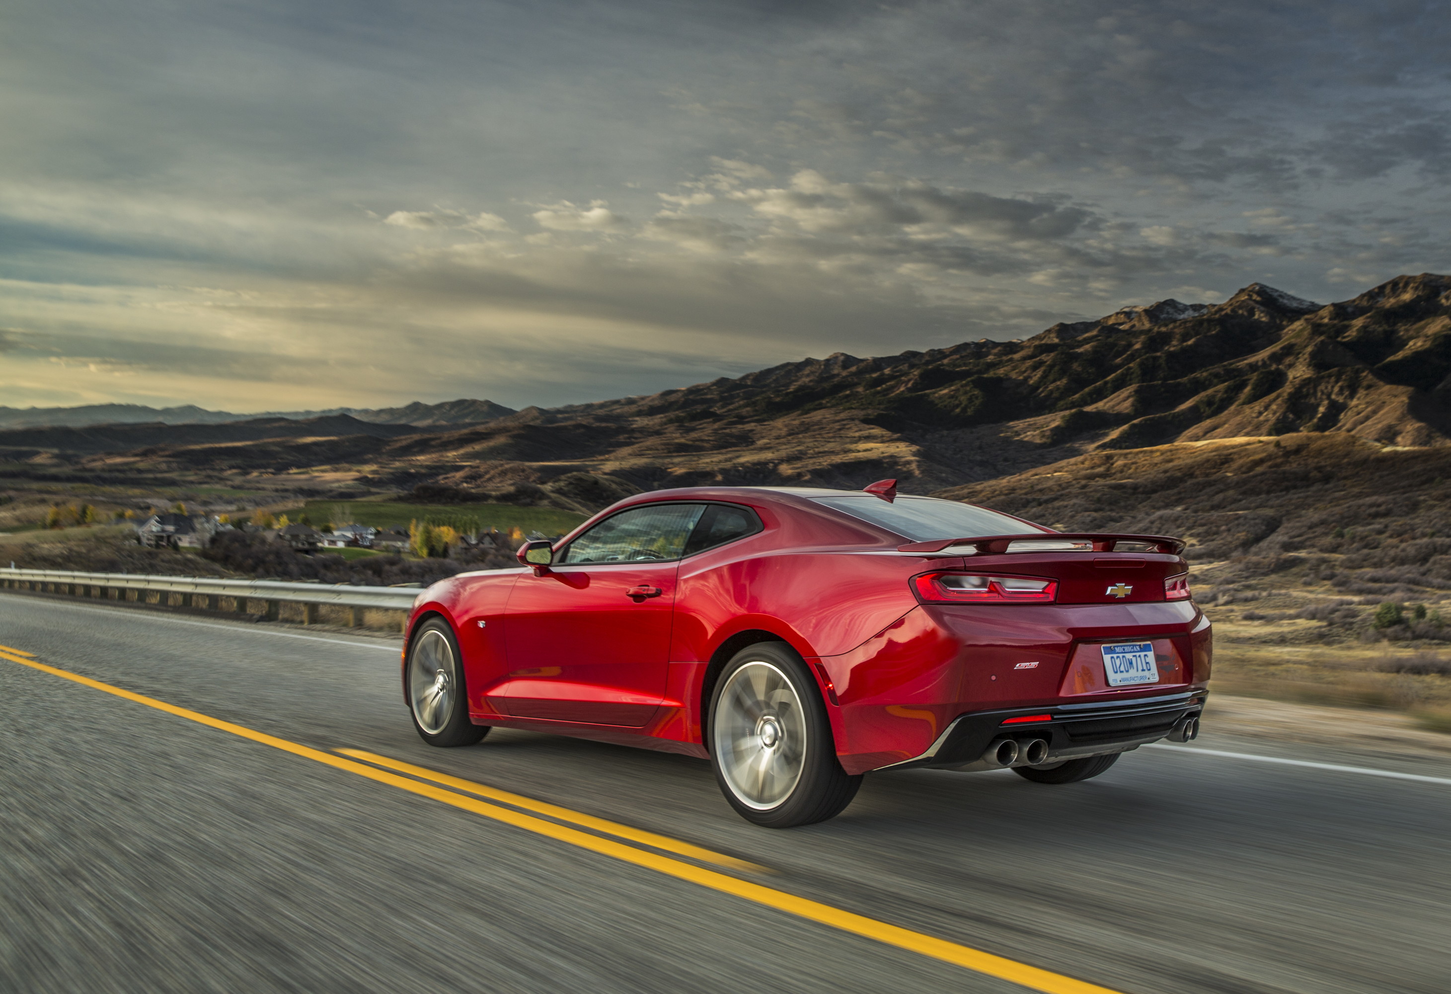
[[1451, 4], [3, 0], [0, 403], [647, 393], [1451, 270]]

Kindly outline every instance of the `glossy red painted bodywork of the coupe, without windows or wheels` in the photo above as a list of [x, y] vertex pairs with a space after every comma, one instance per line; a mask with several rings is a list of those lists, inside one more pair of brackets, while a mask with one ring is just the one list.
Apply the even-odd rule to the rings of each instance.
[[[637, 495], [556, 550], [644, 504], [740, 505], [762, 528], [669, 562], [464, 573], [425, 591], [411, 630], [431, 614], [453, 627], [479, 724], [695, 756], [707, 755], [702, 714], [724, 662], [750, 641], [785, 641], [818, 678], [849, 773], [920, 757], [955, 718], [978, 711], [1204, 688], [1209, 621], [1193, 601], [1165, 599], [1165, 580], [1187, 564], [1174, 553], [1142, 551], [1178, 549], [1177, 540], [1154, 537], [1158, 544], [1140, 541], [1133, 553], [1111, 551], [1114, 540], [1133, 538], [1123, 535], [1096, 537], [1090, 551], [1007, 553], [1006, 543], [984, 541], [961, 554], [958, 546], [913, 541], [813, 499], [843, 495], [805, 488]], [[907, 499], [914, 498], [892, 506]], [[1023, 524], [1014, 534], [1058, 534]], [[943, 572], [1051, 579], [1053, 601], [924, 602], [916, 578]], [[660, 593], [627, 595], [638, 588]], [[1107, 686], [1100, 646], [1129, 640], [1154, 644], [1158, 683]]]

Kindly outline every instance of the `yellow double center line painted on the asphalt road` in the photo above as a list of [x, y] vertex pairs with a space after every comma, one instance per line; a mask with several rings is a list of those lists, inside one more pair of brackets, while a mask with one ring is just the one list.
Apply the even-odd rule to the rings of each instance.
[[688, 863], [682, 859], [673, 856], [662, 856], [656, 852], [649, 852], [644, 849], [637, 849], [634, 846], [627, 846], [614, 839], [602, 839], [601, 836], [591, 834], [588, 831], [580, 831], [579, 829], [570, 829], [569, 826], [556, 824], [554, 821], [547, 821], [544, 818], [534, 817], [533, 814], [524, 814], [522, 811], [515, 811], [512, 808], [501, 807], [498, 804], [489, 804], [480, 801], [477, 797], [469, 797], [467, 794], [459, 794], [451, 789], [443, 789], [434, 786], [432, 784], [424, 784], [418, 779], [411, 779], [408, 776], [399, 776], [398, 773], [379, 769], [377, 766], [389, 766], [414, 776], [427, 778], [435, 784], [445, 784], [454, 786], [459, 791], [469, 791], [470, 794], [480, 794], [483, 797], [492, 797], [493, 800], [503, 801], [505, 804], [512, 804], [515, 807], [522, 807], [527, 810], [537, 811], [540, 814], [547, 814], [548, 817], [559, 818], [562, 821], [570, 821], [573, 824], [595, 829], [596, 831], [604, 831], [614, 834], [617, 837], [630, 839], [653, 849], [662, 849], [666, 852], [673, 852], [679, 856], [688, 856], [691, 859], [698, 859], [701, 862], [714, 862], [717, 865], [730, 865], [737, 869], [752, 869], [759, 871], [762, 868], [755, 863], [747, 863], [744, 860], [734, 859], [731, 856], [724, 856], [721, 853], [714, 853], [708, 849], [701, 849], [698, 846], [691, 846], [675, 839], [667, 839], [666, 836], [657, 836], [650, 831], [641, 831], [638, 829], [631, 829], [628, 826], [621, 826], [614, 821], [607, 821], [604, 818], [595, 818], [579, 811], [570, 811], [569, 808], [562, 808], [553, 804], [546, 804], [543, 801], [535, 801], [533, 798], [525, 798], [518, 794], [509, 794], [506, 791], [499, 791], [496, 788], [485, 786], [483, 784], [474, 784], [472, 781], [464, 781], [456, 776], [447, 776], [444, 773], [437, 773], [434, 771], [425, 769], [422, 766], [414, 766], [411, 763], [402, 763], [385, 756], [374, 756], [373, 753], [364, 753], [355, 749], [341, 750], [348, 756], [355, 756], [358, 759], [366, 759], [369, 763], [377, 763], [377, 766], [370, 766], [367, 763], [355, 762], [354, 759], [344, 759], [342, 756], [335, 756], [332, 753], [322, 752], [319, 749], [311, 749], [302, 746], [296, 742], [289, 742], [287, 739], [279, 739], [276, 736], [268, 736], [261, 731], [254, 731], [239, 724], [232, 724], [231, 721], [222, 721], [210, 715], [202, 714], [199, 711], [190, 711], [187, 708], [178, 708], [174, 704], [167, 704], [165, 701], [158, 701], [152, 697], [145, 697], [142, 694], [132, 694], [131, 691], [123, 691], [119, 686], [110, 683], [103, 683], [100, 681], [93, 681], [89, 676], [80, 676], [78, 673], [71, 673], [64, 669], [57, 669], [54, 666], [46, 666], [45, 663], [36, 662], [32, 653], [22, 649], [10, 649], [0, 646], [0, 659], [7, 659], [13, 663], [22, 666], [29, 666], [38, 669], [42, 673], [51, 673], [52, 676], [59, 676], [83, 686], [90, 686], [93, 689], [102, 691], [104, 694], [113, 694], [115, 697], [125, 698], [128, 701], [135, 701], [136, 704], [144, 704], [148, 708], [157, 708], [158, 711], [165, 711], [167, 714], [174, 714], [178, 718], [186, 718], [187, 721], [196, 721], [197, 724], [205, 724], [221, 731], [229, 731], [234, 736], [241, 736], [242, 739], [251, 739], [264, 746], [271, 746], [273, 749], [281, 749], [283, 752], [292, 753], [293, 756], [303, 756], [315, 762], [332, 766], [335, 769], [344, 769], [350, 773], [357, 773], [358, 776], [366, 776], [370, 781], [379, 784], [387, 784], [389, 786], [396, 786], [409, 794], [418, 794], [419, 797], [427, 797], [443, 804], [448, 804], [473, 814], [492, 818], [495, 821], [502, 821], [511, 824], [517, 829], [524, 829], [550, 839], [557, 839], [559, 842], [567, 842], [572, 846], [579, 846], [580, 849], [588, 849], [591, 852], [601, 853], [604, 856], [611, 856], [621, 862], [633, 863], [636, 866], [644, 866], [646, 869], [653, 869], [659, 874], [667, 876], [675, 876], [676, 879], [689, 881], [691, 884], [698, 884], [707, 887], [712, 891], [720, 891], [721, 894], [731, 894], [746, 901], [753, 901], [756, 904], [763, 904], [775, 911], [786, 911], [795, 914], [801, 919], [810, 921], [817, 921], [820, 924], [830, 926], [833, 929], [840, 929], [842, 932], [849, 932], [852, 935], [863, 936], [866, 939], [875, 939], [876, 942], [887, 943], [889, 946], [897, 946], [900, 949], [908, 949], [923, 956], [932, 956], [933, 959], [940, 959], [943, 962], [962, 966], [965, 969], [975, 971], [978, 974], [985, 974], [988, 977], [997, 977], [1000, 979], [1011, 981], [1023, 987], [1032, 988], [1035, 991], [1043, 991], [1045, 994], [1117, 994], [1107, 987], [1098, 987], [1097, 984], [1088, 984], [1072, 977], [1065, 977], [1062, 974], [1055, 974], [1048, 969], [1040, 969], [1037, 966], [1030, 966], [1027, 964], [1020, 964], [1014, 959], [1007, 959], [1006, 956], [995, 956], [990, 952], [982, 952], [981, 949], [972, 949], [971, 946], [962, 946], [955, 942], [948, 942], [945, 939], [937, 939], [934, 936], [924, 935], [921, 932], [913, 932], [911, 929], [903, 929], [895, 924], [888, 924], [887, 921], [878, 921], [876, 919], [869, 919], [862, 914], [855, 914], [852, 911], [844, 911], [830, 904], [823, 904], [820, 901], [813, 901], [804, 897], [797, 897], [795, 894], [788, 894], [786, 891], [779, 891], [772, 887], [763, 887], [750, 881], [743, 881], [728, 874], [723, 874], [715, 869], [707, 869], [704, 866], [696, 866], [695, 863]]

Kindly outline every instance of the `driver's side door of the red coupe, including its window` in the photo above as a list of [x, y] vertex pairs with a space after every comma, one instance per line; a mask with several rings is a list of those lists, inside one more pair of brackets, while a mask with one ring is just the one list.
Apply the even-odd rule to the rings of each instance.
[[647, 504], [557, 550], [509, 593], [511, 715], [641, 727], [665, 699], [676, 570], [704, 504]]

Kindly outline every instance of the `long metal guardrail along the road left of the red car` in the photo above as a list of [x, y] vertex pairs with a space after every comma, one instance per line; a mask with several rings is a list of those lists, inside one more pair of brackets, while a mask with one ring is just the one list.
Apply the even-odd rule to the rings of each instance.
[[[229, 614], [252, 615], [254, 601], [261, 601], [261, 615], [268, 621], [280, 617], [283, 604], [303, 605], [302, 623], [316, 624], [318, 607], [331, 605], [350, 609], [350, 623], [363, 624], [363, 611], [412, 611], [419, 591], [392, 586], [325, 586], [322, 583], [289, 583], [284, 580], [219, 580], [197, 576], [149, 576], [145, 573], [77, 573], [59, 569], [0, 567], [0, 589], [70, 593], [73, 596], [112, 601], [142, 601], [163, 607], [207, 608], [223, 611], [221, 601], [231, 601]], [[135, 596], [132, 596], [135, 593]], [[174, 604], [173, 598], [180, 598]], [[203, 599], [205, 604], [197, 601]]]

